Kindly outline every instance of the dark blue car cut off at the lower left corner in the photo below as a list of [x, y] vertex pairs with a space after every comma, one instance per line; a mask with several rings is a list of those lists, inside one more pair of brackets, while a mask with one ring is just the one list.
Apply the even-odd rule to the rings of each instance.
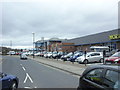
[[18, 88], [19, 79], [13, 75], [7, 75], [0, 72], [0, 90], [16, 90]]

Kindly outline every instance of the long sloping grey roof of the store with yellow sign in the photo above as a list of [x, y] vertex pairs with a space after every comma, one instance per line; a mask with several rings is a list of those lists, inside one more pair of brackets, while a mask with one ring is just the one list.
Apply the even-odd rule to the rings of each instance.
[[109, 36], [114, 34], [120, 34], [120, 29], [69, 39], [65, 42], [74, 43], [75, 45], [109, 42]]

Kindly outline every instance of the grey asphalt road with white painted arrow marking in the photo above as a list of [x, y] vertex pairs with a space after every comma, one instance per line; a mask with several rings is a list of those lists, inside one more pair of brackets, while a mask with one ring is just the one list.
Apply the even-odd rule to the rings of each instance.
[[19, 78], [19, 88], [77, 88], [79, 77], [35, 60], [3, 56], [2, 72]]

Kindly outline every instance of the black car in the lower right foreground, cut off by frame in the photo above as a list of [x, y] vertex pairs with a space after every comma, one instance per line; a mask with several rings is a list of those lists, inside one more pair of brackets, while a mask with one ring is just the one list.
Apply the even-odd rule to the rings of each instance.
[[120, 66], [88, 67], [80, 77], [78, 90], [120, 90]]

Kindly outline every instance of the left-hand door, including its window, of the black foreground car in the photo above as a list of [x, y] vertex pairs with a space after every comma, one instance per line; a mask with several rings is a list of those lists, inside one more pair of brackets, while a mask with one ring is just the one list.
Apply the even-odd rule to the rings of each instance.
[[94, 69], [80, 79], [82, 90], [105, 90], [103, 89], [102, 73], [104, 69]]

